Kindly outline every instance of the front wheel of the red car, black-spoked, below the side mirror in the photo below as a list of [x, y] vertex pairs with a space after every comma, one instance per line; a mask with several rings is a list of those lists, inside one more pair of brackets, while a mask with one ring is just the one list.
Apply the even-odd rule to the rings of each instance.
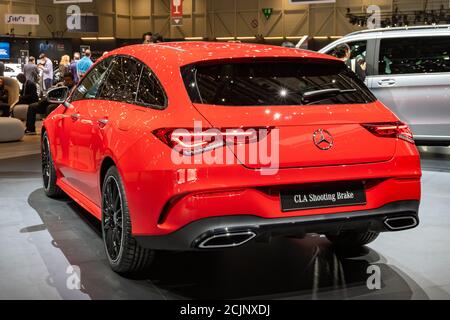
[[50, 198], [60, 198], [64, 192], [56, 184], [56, 169], [50, 151], [47, 132], [44, 132], [41, 139], [41, 164], [45, 194]]

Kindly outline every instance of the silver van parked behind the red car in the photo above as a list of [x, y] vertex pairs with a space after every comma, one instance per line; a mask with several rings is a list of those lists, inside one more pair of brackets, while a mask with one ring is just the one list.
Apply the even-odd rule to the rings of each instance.
[[344, 43], [350, 59], [365, 61], [366, 85], [411, 126], [417, 144], [450, 145], [450, 25], [364, 30], [319, 51], [333, 55]]

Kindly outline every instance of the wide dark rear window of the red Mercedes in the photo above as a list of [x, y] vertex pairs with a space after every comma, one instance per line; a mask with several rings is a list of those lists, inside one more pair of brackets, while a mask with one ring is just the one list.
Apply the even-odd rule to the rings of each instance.
[[308, 104], [355, 104], [376, 100], [362, 81], [335, 61], [200, 63], [181, 70], [193, 103], [223, 106], [302, 105], [305, 92], [350, 90]]

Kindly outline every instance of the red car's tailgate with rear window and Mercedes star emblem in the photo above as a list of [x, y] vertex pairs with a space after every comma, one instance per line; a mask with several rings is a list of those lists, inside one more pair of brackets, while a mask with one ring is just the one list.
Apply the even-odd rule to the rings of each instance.
[[[351, 165], [391, 159], [396, 139], [361, 124], [396, 121], [346, 66], [335, 61], [261, 61], [188, 66], [183, 77], [195, 108], [216, 128], [271, 128], [250, 144], [229, 145], [249, 168]], [[305, 99], [305, 92], [342, 93]], [[345, 90], [349, 90], [346, 92]], [[272, 158], [273, 159], [273, 158]]]

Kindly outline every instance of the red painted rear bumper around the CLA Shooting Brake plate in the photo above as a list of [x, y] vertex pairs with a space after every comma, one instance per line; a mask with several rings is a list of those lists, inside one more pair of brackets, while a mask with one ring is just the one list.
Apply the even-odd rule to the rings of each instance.
[[[240, 164], [175, 166], [159, 156], [136, 161], [144, 158], [139, 147], [150, 145], [132, 148], [119, 163], [133, 236], [169, 235], [209, 218], [254, 216], [276, 221], [370, 211], [393, 202], [420, 200], [420, 159], [415, 146], [407, 142], [398, 143], [389, 161], [280, 169], [275, 175], [263, 175], [262, 170]], [[170, 157], [164, 152], [161, 155]], [[281, 209], [280, 191], [285, 188], [338, 181], [364, 181], [367, 203], [289, 212]]]

